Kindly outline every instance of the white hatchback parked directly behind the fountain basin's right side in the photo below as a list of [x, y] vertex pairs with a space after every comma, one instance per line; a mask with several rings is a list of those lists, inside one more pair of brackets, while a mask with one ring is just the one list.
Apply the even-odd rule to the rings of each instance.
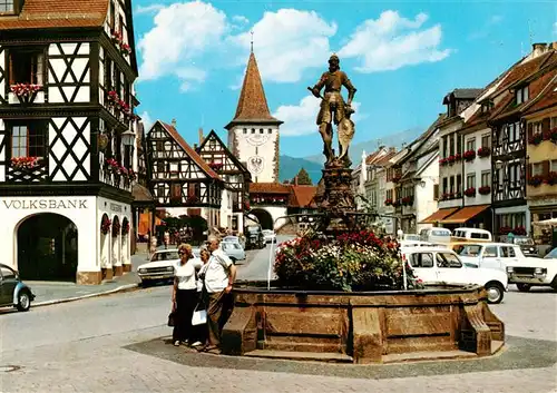
[[487, 291], [488, 303], [501, 303], [507, 291], [508, 279], [505, 272], [492, 268], [468, 267], [458, 255], [444, 247], [408, 248], [402, 252], [414, 275], [426, 285], [476, 284]]

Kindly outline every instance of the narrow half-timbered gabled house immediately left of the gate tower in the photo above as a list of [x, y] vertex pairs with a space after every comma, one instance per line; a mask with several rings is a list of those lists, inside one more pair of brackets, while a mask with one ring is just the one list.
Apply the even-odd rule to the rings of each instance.
[[218, 135], [211, 132], [203, 137], [196, 151], [223, 179], [225, 188], [221, 204], [221, 226], [243, 230], [244, 212], [250, 209], [250, 170], [232, 154]]

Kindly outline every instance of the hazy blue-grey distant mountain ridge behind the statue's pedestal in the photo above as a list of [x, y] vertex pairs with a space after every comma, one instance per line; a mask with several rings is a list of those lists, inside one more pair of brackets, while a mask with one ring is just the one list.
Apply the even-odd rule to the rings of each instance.
[[[387, 135], [387, 136], [381, 137], [381, 138], [375, 138], [375, 139], [371, 139], [368, 141], [361, 141], [359, 144], [352, 145], [350, 147], [350, 153], [349, 153], [350, 159], [352, 160], [353, 166], [356, 166], [360, 163], [360, 160], [362, 159], [362, 151], [363, 150], [365, 150], [367, 154], [371, 154], [378, 149], [379, 145], [384, 145], [388, 147], [397, 147], [397, 149], [400, 149], [402, 144], [410, 144], [412, 140], [418, 138], [422, 132], [423, 132], [423, 129], [421, 129], [419, 127], [413, 127], [413, 128], [409, 128], [409, 129], [405, 129], [405, 130], [400, 131], [400, 132]], [[289, 157], [289, 158], [292, 158], [292, 157]], [[323, 165], [323, 163], [325, 161], [325, 158], [322, 154], [307, 156], [307, 157], [304, 157], [303, 159], [311, 161], [311, 163], [317, 163], [320, 165]], [[307, 170], [307, 168], [305, 168], [305, 169]], [[311, 173], [310, 173], [310, 176], [312, 176]], [[321, 175], [320, 175], [320, 177], [321, 177]]]

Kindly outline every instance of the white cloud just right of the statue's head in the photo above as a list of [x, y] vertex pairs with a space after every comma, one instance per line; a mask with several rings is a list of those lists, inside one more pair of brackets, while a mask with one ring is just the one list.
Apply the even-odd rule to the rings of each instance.
[[419, 13], [413, 20], [397, 11], [384, 11], [379, 19], [368, 19], [350, 37], [339, 56], [361, 59], [355, 69], [361, 72], [397, 70], [421, 62], [447, 58], [450, 49], [440, 49], [440, 24], [421, 29], [428, 16]]

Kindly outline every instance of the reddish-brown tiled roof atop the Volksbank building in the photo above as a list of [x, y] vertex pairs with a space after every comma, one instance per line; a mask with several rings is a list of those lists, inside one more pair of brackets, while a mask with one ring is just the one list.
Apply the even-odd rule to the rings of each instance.
[[19, 16], [0, 17], [0, 30], [101, 27], [108, 0], [26, 0]]

